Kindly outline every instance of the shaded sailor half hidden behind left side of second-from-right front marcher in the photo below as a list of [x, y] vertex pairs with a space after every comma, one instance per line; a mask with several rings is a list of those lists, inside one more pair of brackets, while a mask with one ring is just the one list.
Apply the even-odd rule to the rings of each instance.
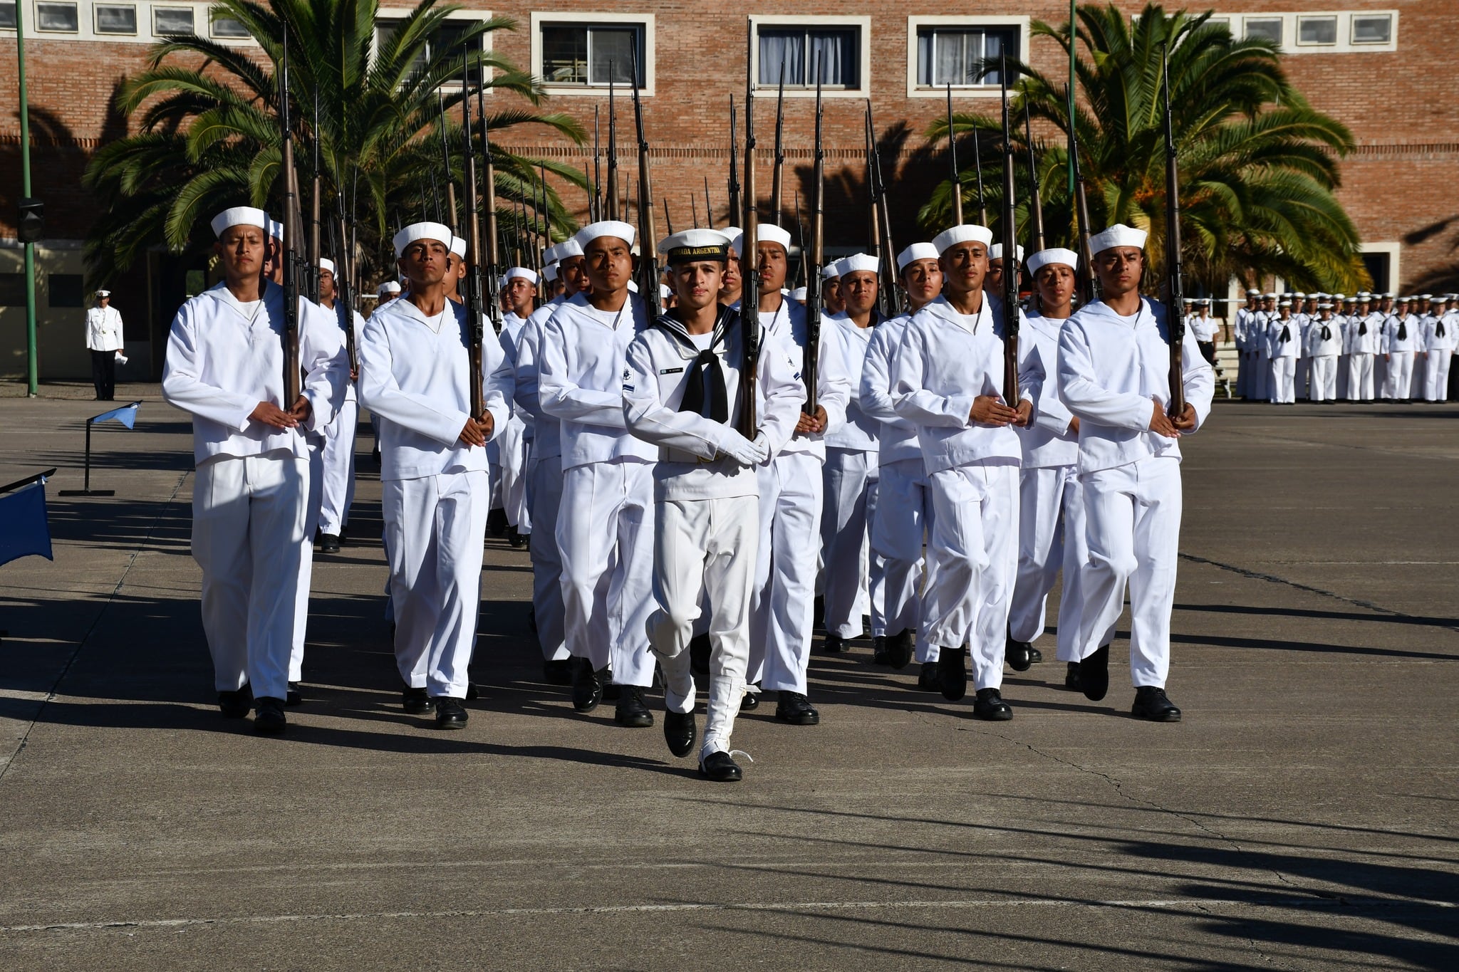
[[[924, 563], [922, 541], [931, 532], [932, 497], [916, 426], [899, 417], [891, 399], [891, 358], [902, 344], [912, 315], [943, 291], [943, 268], [932, 243], [912, 243], [897, 254], [897, 275], [907, 294], [907, 313], [883, 321], [871, 332], [861, 370], [861, 409], [881, 423], [877, 477], [877, 514], [871, 549], [883, 558], [886, 577], [887, 657], [875, 659], [900, 669], [913, 648], [922, 665], [918, 686], [937, 691], [938, 646], [928, 640], [929, 614], [922, 589], [932, 587], [931, 558]], [[925, 574], [925, 577], [924, 577]]]

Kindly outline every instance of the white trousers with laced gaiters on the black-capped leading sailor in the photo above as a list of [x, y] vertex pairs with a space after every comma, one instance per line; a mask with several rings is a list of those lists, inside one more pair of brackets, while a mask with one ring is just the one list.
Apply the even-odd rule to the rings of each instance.
[[728, 752], [750, 662], [750, 599], [760, 542], [753, 495], [664, 500], [654, 520], [654, 602], [648, 637], [664, 666], [664, 705], [694, 711], [689, 640], [708, 612], [709, 711], [700, 755]]

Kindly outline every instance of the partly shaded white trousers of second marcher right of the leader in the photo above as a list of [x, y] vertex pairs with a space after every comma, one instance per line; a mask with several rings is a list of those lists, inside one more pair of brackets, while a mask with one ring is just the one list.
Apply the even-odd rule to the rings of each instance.
[[877, 517], [877, 453], [827, 449], [821, 469], [826, 494], [821, 509], [821, 560], [824, 563], [826, 631], [859, 638], [862, 596], [871, 602], [871, 634], [887, 632], [886, 561], [870, 546]]

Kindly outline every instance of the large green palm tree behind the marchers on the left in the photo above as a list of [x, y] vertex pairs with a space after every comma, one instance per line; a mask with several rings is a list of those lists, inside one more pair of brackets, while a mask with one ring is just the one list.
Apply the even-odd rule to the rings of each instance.
[[[442, 152], [449, 156], [449, 178], [461, 184], [463, 68], [473, 86], [484, 76], [496, 101], [512, 93], [527, 102], [489, 112], [490, 131], [541, 124], [581, 143], [585, 136], [576, 121], [533, 109], [543, 99], [537, 79], [483, 50], [486, 35], [514, 23], [448, 19], [458, 9], [420, 0], [376, 39], [378, 0], [217, 0], [212, 16], [241, 23], [263, 58], [248, 48], [177, 36], [158, 44], [150, 66], [123, 82], [117, 108], [139, 131], [101, 149], [86, 169], [86, 187], [104, 201], [88, 240], [92, 275], [124, 270], [158, 239], [174, 252], [206, 246], [212, 242], [206, 217], [242, 200], [280, 211], [283, 138], [274, 67], [286, 28], [299, 178], [308, 188], [317, 156], [321, 208], [325, 216], [343, 210], [357, 217], [365, 274], [388, 264], [392, 254], [385, 248], [397, 220], [442, 214]], [[473, 119], [474, 111], [473, 105]], [[479, 122], [473, 130], [480, 153]], [[521, 200], [531, 205], [541, 192], [543, 166], [585, 184], [581, 171], [514, 154], [495, 138], [492, 159], [503, 205]], [[560, 239], [576, 227], [550, 187], [547, 198]]]

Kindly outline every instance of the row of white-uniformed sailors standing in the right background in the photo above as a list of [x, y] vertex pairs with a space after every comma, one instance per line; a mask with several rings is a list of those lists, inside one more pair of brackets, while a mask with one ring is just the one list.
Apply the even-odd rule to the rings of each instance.
[[1247, 399], [1443, 402], [1459, 347], [1459, 294], [1247, 290], [1231, 337], [1236, 393]]

